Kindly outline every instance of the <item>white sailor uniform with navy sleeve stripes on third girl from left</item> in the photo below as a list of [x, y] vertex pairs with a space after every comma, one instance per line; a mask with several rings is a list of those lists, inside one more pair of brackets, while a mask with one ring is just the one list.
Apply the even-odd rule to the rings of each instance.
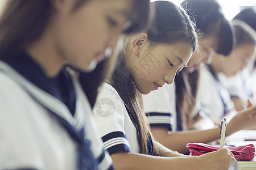
[[[167, 128], [171, 133], [184, 130], [181, 112], [176, 104], [175, 88], [174, 82], [170, 85], [166, 84], [148, 95], [143, 95], [144, 111], [151, 127]], [[191, 114], [192, 118], [196, 118], [200, 114], [205, 120], [203, 124], [201, 122], [193, 124], [192, 129], [205, 130], [215, 126], [213, 122], [209, 120], [208, 116], [205, 116], [198, 100]], [[207, 124], [205, 124], [205, 122], [207, 122]]]

